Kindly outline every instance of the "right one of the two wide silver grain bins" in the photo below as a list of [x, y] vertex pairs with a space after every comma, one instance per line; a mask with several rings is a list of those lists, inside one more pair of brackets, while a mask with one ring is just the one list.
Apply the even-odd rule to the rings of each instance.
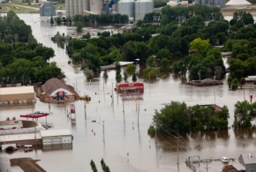
[[135, 19], [144, 19], [145, 14], [153, 11], [153, 0], [138, 0], [135, 2]]

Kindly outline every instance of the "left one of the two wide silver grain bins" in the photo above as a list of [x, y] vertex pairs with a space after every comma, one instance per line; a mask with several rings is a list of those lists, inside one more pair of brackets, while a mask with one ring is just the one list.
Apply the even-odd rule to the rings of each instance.
[[118, 13], [125, 14], [129, 18], [134, 18], [135, 14], [135, 1], [134, 0], [121, 0], [118, 2]]

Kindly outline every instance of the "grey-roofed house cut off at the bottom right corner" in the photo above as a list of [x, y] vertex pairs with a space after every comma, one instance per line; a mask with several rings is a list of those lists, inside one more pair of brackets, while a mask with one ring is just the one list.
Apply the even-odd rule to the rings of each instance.
[[245, 167], [245, 172], [256, 172], [256, 153], [242, 153], [238, 161]]

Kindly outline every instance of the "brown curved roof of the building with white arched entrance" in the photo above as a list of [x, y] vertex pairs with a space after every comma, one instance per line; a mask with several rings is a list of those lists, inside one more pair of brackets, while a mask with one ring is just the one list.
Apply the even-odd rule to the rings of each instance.
[[42, 91], [47, 94], [51, 94], [59, 88], [63, 88], [72, 92], [69, 86], [67, 86], [62, 80], [56, 78], [49, 79], [44, 83], [44, 85], [41, 86]]

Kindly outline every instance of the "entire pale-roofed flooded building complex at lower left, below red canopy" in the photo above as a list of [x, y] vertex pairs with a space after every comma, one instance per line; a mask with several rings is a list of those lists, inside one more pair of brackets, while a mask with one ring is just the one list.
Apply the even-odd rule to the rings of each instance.
[[[17, 123], [16, 123], [17, 122]], [[52, 146], [72, 144], [72, 132], [68, 129], [46, 130], [37, 123], [36, 126], [24, 128], [20, 123], [36, 123], [34, 121], [2, 121], [0, 122], [0, 146], [16, 144], [19, 146], [40, 145]], [[16, 123], [16, 125], [15, 125]], [[14, 126], [14, 127], [13, 127]]]

